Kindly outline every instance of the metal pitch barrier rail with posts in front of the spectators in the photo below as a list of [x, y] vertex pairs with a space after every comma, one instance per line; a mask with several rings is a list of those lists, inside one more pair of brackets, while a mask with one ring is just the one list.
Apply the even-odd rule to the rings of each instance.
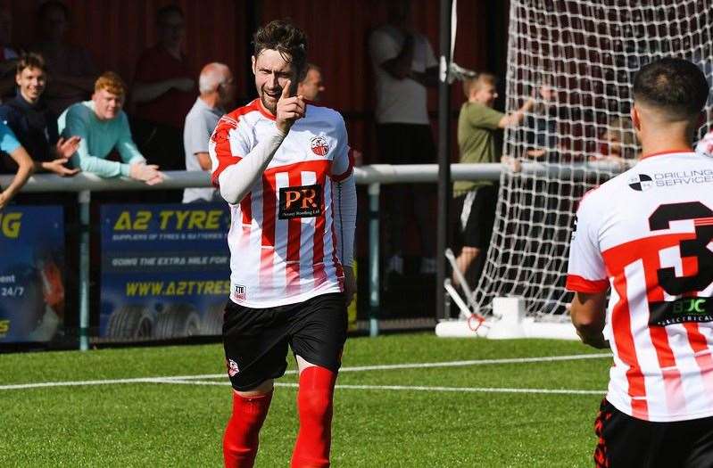
[[[501, 164], [452, 164], [452, 180], [498, 180], [502, 173], [510, 173], [511, 169]], [[546, 175], [563, 177], [586, 177], [592, 170], [591, 164], [568, 165], [560, 167], [552, 164], [527, 163], [519, 170], [522, 175]], [[601, 173], [601, 165], [597, 168]], [[611, 168], [612, 173], [617, 168]], [[34, 175], [23, 187], [22, 193], [78, 193], [79, 200], [79, 348], [89, 349], [89, 323], [90, 323], [90, 201], [92, 193], [107, 191], [161, 191], [184, 189], [192, 187], [210, 187], [210, 176], [205, 172], [194, 171], [167, 171], [165, 180], [160, 185], [145, 185], [141, 182], [123, 178], [104, 179], [93, 174], [80, 173], [75, 177], [62, 178], [49, 174]], [[380, 308], [382, 307], [383, 281], [381, 273], [380, 223], [383, 213], [380, 211], [381, 193], [383, 185], [394, 184], [435, 184], [438, 182], [438, 166], [435, 164], [399, 165], [375, 164], [354, 168], [354, 177], [357, 185], [366, 185], [368, 200], [367, 240], [368, 240], [368, 291], [361, 291], [368, 295], [368, 318], [366, 327], [370, 336], [376, 336], [379, 330], [388, 330], [399, 327], [399, 320], [381, 320]], [[0, 186], [8, 185], [12, 176], [0, 176]], [[363, 205], [362, 205], [363, 206]], [[360, 213], [360, 217], [365, 214]], [[437, 256], [441, 261], [443, 256]], [[362, 267], [363, 268], [363, 267]], [[435, 284], [432, 284], [435, 288]], [[433, 318], [428, 319], [430, 324], [435, 324]], [[197, 326], [197, 325], [196, 325]]]

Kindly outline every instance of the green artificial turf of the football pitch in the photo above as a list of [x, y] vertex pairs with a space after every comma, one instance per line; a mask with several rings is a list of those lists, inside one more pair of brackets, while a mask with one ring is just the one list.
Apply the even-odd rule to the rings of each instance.
[[[596, 352], [570, 341], [403, 334], [351, 339], [344, 367]], [[591, 466], [593, 418], [609, 365], [609, 358], [599, 357], [344, 372], [337, 385], [601, 393], [340, 388], [332, 465]], [[0, 356], [0, 386], [222, 373], [220, 345]], [[278, 382], [296, 378], [287, 374]], [[297, 431], [295, 396], [293, 387], [276, 390], [256, 466], [288, 466]], [[0, 466], [220, 466], [230, 390], [195, 382], [53, 386], [0, 390], [0, 405]]]

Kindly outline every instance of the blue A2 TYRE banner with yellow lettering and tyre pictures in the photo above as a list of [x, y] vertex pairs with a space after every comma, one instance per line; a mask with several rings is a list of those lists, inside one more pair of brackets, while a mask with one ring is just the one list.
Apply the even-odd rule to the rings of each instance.
[[227, 204], [104, 205], [101, 220], [101, 337], [220, 335], [230, 290]]

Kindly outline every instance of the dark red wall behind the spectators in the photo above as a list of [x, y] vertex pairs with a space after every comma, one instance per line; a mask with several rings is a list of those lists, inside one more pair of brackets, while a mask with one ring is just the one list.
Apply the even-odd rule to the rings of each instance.
[[[13, 16], [12, 39], [16, 45], [35, 40], [35, 11], [40, 2], [0, 0]], [[168, 0], [66, 0], [72, 12], [69, 40], [87, 47], [100, 70], [115, 70], [131, 81], [138, 55], [155, 41], [153, 12]], [[245, 81], [249, 65], [246, 34], [250, 18], [247, 0], [179, 0], [187, 18], [186, 53], [196, 70], [207, 62], [226, 62], [238, 81]], [[414, 0], [415, 28], [427, 35], [438, 54], [438, 2]], [[485, 16], [487, 0], [458, 4], [458, 37], [455, 60], [461, 66], [482, 70], [487, 66]], [[367, 162], [377, 161], [373, 130], [374, 86], [367, 40], [370, 29], [386, 19], [385, 2], [377, 0], [264, 0], [253, 4], [256, 21], [264, 24], [291, 18], [309, 38], [310, 61], [324, 70], [325, 103], [342, 111], [347, 119], [352, 146], [361, 149]], [[253, 94], [252, 83], [238, 83], [242, 94]], [[454, 111], [462, 103], [460, 86], [452, 88]], [[429, 110], [435, 112], [435, 90]], [[453, 129], [455, 131], [455, 129]], [[453, 134], [455, 135], [455, 134]]]

